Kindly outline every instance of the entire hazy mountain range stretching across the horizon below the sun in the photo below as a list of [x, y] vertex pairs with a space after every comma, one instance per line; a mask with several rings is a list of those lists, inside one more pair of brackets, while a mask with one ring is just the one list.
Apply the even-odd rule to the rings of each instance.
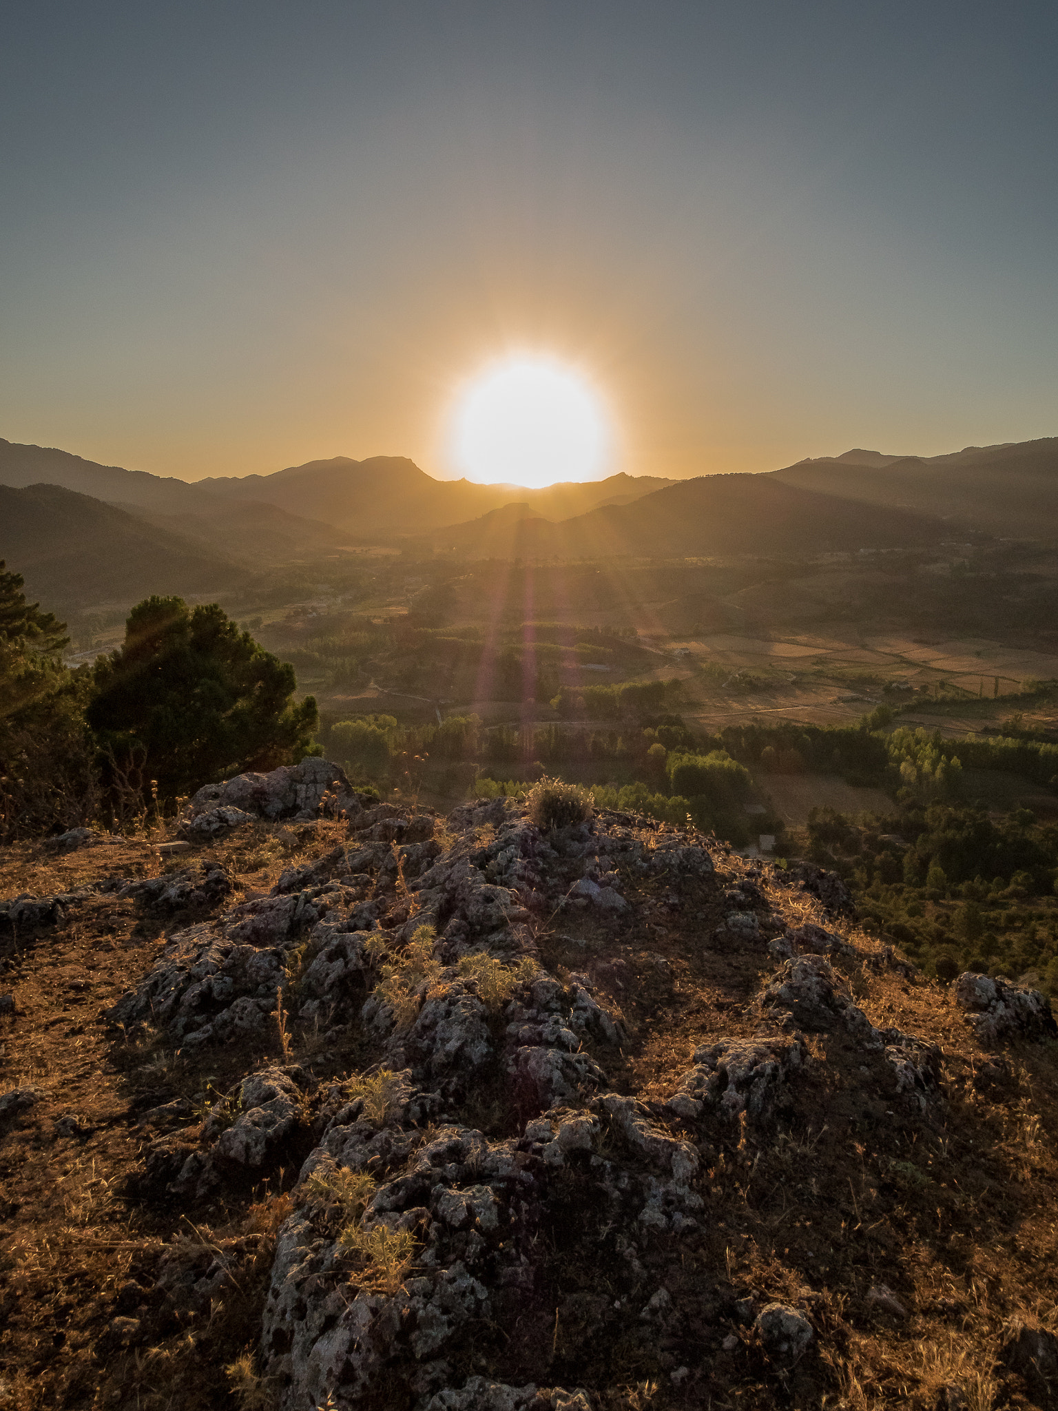
[[175, 477], [0, 440], [0, 556], [62, 611], [221, 591], [364, 543], [480, 557], [818, 553], [962, 532], [1058, 539], [1058, 437], [945, 456], [855, 449], [762, 474], [545, 490], [434, 480], [402, 456]]

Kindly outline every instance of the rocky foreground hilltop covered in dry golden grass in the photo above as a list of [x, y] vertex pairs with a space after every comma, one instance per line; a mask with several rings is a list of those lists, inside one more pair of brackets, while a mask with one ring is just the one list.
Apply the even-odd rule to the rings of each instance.
[[192, 811], [0, 855], [18, 1405], [1054, 1405], [1041, 996], [633, 814]]

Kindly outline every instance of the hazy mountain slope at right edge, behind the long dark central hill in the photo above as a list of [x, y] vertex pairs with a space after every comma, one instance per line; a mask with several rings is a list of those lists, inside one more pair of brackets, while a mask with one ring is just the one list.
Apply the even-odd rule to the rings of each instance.
[[[863, 457], [852, 460], [852, 457]], [[875, 457], [868, 461], [866, 457]], [[1058, 437], [968, 446], [947, 456], [873, 452], [803, 460], [767, 478], [869, 505], [911, 509], [1016, 538], [1058, 536]]]

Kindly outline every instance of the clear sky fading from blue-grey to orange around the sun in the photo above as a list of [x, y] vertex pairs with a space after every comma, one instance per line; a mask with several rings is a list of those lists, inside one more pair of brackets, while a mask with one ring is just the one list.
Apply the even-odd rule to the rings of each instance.
[[1058, 433], [1058, 6], [7, 0], [0, 436], [461, 467], [568, 364], [600, 470]]

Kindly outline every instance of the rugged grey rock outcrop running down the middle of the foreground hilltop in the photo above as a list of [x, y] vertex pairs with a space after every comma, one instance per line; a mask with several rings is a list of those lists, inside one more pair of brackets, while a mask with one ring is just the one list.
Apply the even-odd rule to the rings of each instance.
[[[319, 782], [326, 769], [309, 773]], [[272, 797], [312, 814], [310, 796], [291, 803], [288, 783], [231, 780], [196, 796], [192, 818], [268, 817]], [[532, 1345], [557, 1336], [556, 1302], [570, 1295], [556, 1288], [549, 1250], [580, 1239], [578, 1280], [607, 1271], [609, 1294], [573, 1300], [574, 1324], [621, 1319], [622, 1336], [640, 1343], [693, 1342], [705, 1315], [656, 1270], [674, 1267], [680, 1243], [708, 1225], [717, 1146], [732, 1134], [767, 1141], [824, 1061], [805, 1036], [839, 1040], [890, 1106], [900, 1095], [908, 1112], [940, 1101], [940, 1050], [875, 1027], [855, 1003], [842, 968], [866, 968], [866, 954], [805, 923], [803, 902], [791, 924], [780, 883], [766, 895], [760, 871], [718, 873], [721, 855], [693, 834], [615, 814], [545, 835], [515, 800], [467, 804], [444, 827], [392, 806], [351, 810], [343, 832], [268, 896], [220, 897], [214, 916], [176, 930], [111, 1010], [127, 1029], [159, 1026], [182, 1050], [251, 1040], [247, 1051], [260, 1053], [282, 1006], [293, 1022], [354, 1033], [370, 1054], [364, 1074], [319, 1089], [300, 1070], [262, 1067], [214, 1103], [197, 1144], [169, 1133], [145, 1157], [145, 1187], [214, 1199], [224, 1181], [260, 1180], [299, 1153], [260, 1346], [279, 1411], [382, 1398], [415, 1411], [598, 1411], [580, 1370], [546, 1390], [542, 1374], [478, 1374], [475, 1349], [492, 1329], [539, 1316]], [[199, 873], [171, 875], [185, 876]], [[808, 880], [841, 902], [827, 875]], [[164, 889], [155, 900], [135, 886], [127, 895], [164, 904]], [[602, 952], [635, 928], [662, 931], [659, 914], [691, 896], [711, 907], [690, 921], [695, 944], [749, 988], [731, 1027], [647, 1101], [626, 1091], [635, 1040], [608, 998], [626, 971]], [[560, 913], [584, 933], [584, 964], [549, 972], [540, 955]], [[671, 986], [674, 967], [649, 954], [649, 983]], [[181, 1268], [171, 1256], [174, 1288]], [[190, 1287], [209, 1278], [223, 1283], [223, 1270], [199, 1270]], [[734, 1349], [776, 1376], [813, 1356], [813, 1324], [794, 1307], [743, 1298], [728, 1316], [742, 1329]], [[731, 1352], [731, 1338], [715, 1342]], [[671, 1367], [673, 1387], [693, 1376]]]

